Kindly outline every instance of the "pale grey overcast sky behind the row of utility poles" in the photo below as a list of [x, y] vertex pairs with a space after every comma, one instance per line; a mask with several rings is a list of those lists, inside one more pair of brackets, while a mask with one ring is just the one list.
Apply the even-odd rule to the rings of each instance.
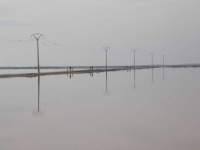
[[[0, 0], [0, 66], [200, 63], [199, 0]], [[22, 41], [19, 41], [22, 40]]]

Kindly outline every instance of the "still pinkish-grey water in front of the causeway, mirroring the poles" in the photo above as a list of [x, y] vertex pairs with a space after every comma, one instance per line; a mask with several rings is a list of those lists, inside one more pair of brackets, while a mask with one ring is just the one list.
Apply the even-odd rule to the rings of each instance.
[[199, 77], [137, 70], [135, 88], [109, 72], [107, 92], [105, 73], [0, 79], [0, 150], [199, 150]]

